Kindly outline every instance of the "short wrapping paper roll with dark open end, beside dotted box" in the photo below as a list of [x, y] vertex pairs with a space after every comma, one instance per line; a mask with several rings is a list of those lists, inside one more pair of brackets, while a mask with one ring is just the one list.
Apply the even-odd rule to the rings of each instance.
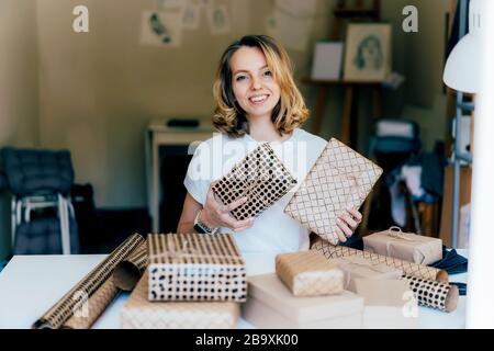
[[115, 286], [125, 292], [130, 292], [139, 281], [148, 263], [147, 244], [141, 244], [134, 252], [116, 264], [112, 279]]

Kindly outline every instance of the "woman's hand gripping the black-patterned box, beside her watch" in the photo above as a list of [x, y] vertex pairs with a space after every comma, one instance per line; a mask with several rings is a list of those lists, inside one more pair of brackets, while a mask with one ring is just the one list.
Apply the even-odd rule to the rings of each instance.
[[210, 186], [207, 190], [206, 201], [199, 219], [209, 228], [224, 227], [229, 228], [233, 231], [240, 231], [250, 228], [254, 224], [252, 217], [237, 220], [229, 213], [232, 210], [245, 204], [247, 200], [248, 197], [244, 196], [232, 202], [229, 205], [224, 205], [221, 201], [216, 200], [213, 188]]

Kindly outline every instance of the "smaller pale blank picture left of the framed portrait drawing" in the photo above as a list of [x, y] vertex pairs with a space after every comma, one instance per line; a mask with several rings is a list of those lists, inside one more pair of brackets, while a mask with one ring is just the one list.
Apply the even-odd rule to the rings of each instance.
[[312, 79], [339, 79], [341, 75], [343, 42], [317, 42], [312, 63]]

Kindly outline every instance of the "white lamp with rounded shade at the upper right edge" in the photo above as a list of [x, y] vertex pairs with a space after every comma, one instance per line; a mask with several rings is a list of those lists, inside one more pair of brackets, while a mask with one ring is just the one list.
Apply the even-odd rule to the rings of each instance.
[[454, 46], [446, 61], [442, 80], [458, 91], [475, 93], [479, 87], [479, 37], [481, 30], [481, 3], [471, 0], [469, 7], [469, 33]]

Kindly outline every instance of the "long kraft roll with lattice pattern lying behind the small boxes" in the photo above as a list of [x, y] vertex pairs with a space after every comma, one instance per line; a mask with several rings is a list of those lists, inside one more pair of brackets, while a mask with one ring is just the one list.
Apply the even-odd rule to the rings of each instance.
[[319, 237], [315, 238], [314, 244], [311, 246], [311, 249], [322, 251], [324, 256], [328, 259], [347, 256], [360, 256], [370, 261], [374, 262], [378, 261], [386, 265], [401, 269], [403, 270], [403, 273], [406, 275], [446, 283], [449, 280], [448, 273], [437, 268], [407, 262], [392, 257], [347, 248], [344, 246], [334, 246]]

